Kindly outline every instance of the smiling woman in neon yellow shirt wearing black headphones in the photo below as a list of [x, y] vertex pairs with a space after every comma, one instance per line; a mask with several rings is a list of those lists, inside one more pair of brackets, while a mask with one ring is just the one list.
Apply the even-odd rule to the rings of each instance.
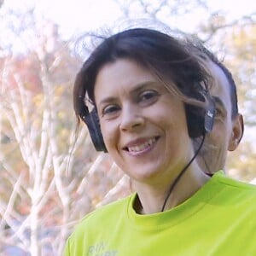
[[198, 60], [177, 39], [135, 28], [106, 38], [84, 62], [75, 113], [135, 193], [85, 216], [65, 255], [256, 252], [255, 187], [221, 171], [208, 176], [195, 160], [215, 113]]

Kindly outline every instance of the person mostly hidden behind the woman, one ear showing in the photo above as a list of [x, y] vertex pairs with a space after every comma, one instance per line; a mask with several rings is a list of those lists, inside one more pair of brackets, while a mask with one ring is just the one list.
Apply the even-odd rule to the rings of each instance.
[[[219, 61], [201, 41], [189, 38], [184, 43], [189, 52], [194, 51], [194, 55], [203, 60], [202, 64], [207, 65], [212, 77], [209, 91], [216, 108], [214, 125], [196, 160], [204, 172], [214, 173], [225, 169], [228, 151], [236, 150], [243, 137], [243, 116], [238, 110], [236, 83], [224, 62]], [[201, 137], [195, 138], [193, 142], [195, 149], [198, 148]]]

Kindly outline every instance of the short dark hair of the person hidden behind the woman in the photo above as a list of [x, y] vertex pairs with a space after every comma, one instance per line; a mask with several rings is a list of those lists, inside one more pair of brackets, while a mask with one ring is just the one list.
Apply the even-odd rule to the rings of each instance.
[[224, 75], [226, 76], [230, 84], [230, 101], [232, 106], [231, 118], [235, 119], [238, 114], [238, 101], [236, 83], [235, 80], [233, 79], [232, 73], [230, 73], [230, 70], [227, 67], [225, 67], [223, 61], [218, 60], [218, 57], [214, 55], [211, 50], [207, 49], [206, 46], [202, 44], [202, 42], [199, 39], [194, 41], [189, 39], [186, 41], [186, 44], [188, 44], [187, 47], [189, 46], [189, 48], [195, 48], [199, 52], [201, 58], [205, 59], [205, 56], [207, 56], [210, 61], [216, 64], [223, 71]]

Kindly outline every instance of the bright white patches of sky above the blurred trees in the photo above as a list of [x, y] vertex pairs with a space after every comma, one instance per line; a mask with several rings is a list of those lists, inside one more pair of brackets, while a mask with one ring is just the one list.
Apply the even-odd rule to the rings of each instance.
[[[60, 25], [60, 32], [64, 38], [71, 38], [74, 34], [85, 30], [94, 30], [101, 26], [113, 25], [122, 15], [117, 3], [129, 3], [129, 0], [5, 0], [4, 9], [25, 9], [35, 6], [36, 13], [54, 20]], [[152, 0], [151, 3], [157, 2]], [[207, 0], [211, 11], [225, 12], [227, 19], [236, 19], [241, 15], [256, 12], [255, 0]], [[204, 20], [206, 13], [200, 9], [191, 9], [190, 15], [175, 20], [177, 26], [189, 32]]]

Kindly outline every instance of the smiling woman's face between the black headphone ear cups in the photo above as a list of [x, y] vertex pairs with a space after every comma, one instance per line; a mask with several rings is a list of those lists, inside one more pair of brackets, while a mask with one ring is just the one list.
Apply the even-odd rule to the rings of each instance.
[[95, 99], [108, 153], [132, 179], [170, 183], [193, 156], [183, 102], [137, 62], [104, 65]]

